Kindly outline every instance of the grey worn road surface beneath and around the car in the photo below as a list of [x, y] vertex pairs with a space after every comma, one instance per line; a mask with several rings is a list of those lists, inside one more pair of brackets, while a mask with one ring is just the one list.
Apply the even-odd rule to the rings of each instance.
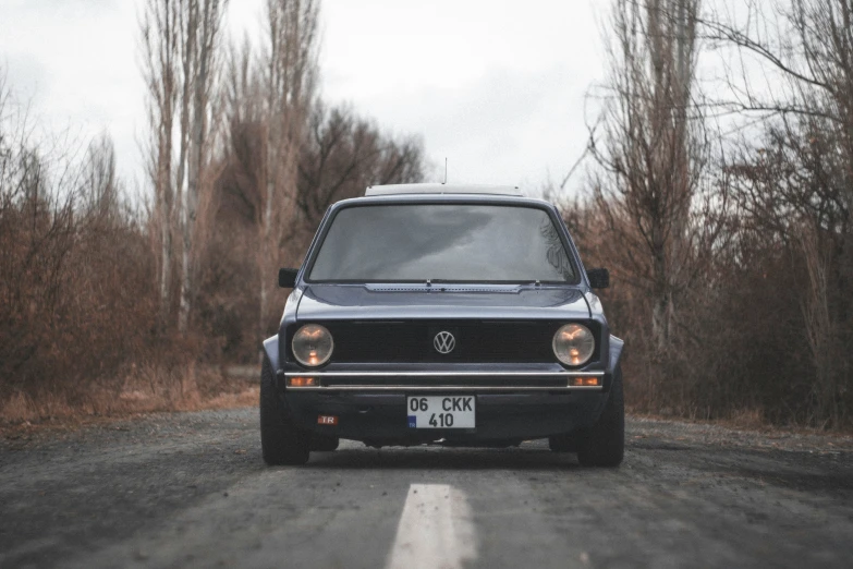
[[266, 468], [251, 409], [0, 441], [0, 567], [853, 567], [853, 439], [632, 419], [541, 443], [342, 443]]

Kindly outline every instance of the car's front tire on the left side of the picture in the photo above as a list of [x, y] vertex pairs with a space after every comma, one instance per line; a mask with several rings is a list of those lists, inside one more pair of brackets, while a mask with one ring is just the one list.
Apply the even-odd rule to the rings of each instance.
[[308, 461], [308, 439], [276, 391], [272, 364], [266, 354], [260, 367], [260, 449], [270, 467]]

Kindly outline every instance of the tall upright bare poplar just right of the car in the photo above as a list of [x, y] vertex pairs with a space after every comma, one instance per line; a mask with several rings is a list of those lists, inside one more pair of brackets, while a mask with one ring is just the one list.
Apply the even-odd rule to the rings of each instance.
[[[598, 202], [626, 247], [630, 279], [651, 300], [651, 332], [669, 349], [679, 298], [696, 276], [696, 240], [715, 239], [696, 206], [709, 159], [694, 102], [698, 0], [616, 0], [610, 50], [612, 94], [602, 122], [605, 167]], [[694, 216], [695, 217], [695, 216]], [[706, 243], [707, 245], [707, 243]]]

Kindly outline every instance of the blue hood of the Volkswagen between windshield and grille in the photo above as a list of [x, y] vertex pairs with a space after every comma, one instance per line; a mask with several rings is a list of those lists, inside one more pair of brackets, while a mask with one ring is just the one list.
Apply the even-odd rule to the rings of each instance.
[[588, 318], [572, 287], [310, 284], [300, 320], [338, 319], [565, 319]]

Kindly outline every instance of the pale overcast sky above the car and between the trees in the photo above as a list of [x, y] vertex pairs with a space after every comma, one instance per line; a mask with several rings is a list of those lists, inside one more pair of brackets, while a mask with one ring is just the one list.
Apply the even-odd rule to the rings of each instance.
[[[602, 77], [594, 0], [324, 0], [322, 95], [386, 130], [423, 136], [437, 179], [536, 193], [585, 144], [584, 95]], [[112, 135], [143, 179], [141, 0], [0, 0], [0, 64], [51, 128]], [[231, 0], [228, 28], [257, 36], [263, 0]], [[576, 186], [576, 177], [570, 186]]]

